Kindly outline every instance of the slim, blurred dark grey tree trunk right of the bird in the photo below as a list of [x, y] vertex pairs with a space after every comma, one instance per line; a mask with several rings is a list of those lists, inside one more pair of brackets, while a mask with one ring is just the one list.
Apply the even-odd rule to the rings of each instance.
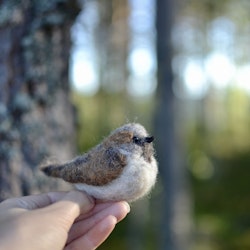
[[171, 32], [175, 1], [156, 1], [158, 92], [155, 134], [160, 166], [162, 213], [159, 249], [189, 249], [189, 197], [186, 189], [185, 166], [178, 143], [176, 105], [173, 93]]

